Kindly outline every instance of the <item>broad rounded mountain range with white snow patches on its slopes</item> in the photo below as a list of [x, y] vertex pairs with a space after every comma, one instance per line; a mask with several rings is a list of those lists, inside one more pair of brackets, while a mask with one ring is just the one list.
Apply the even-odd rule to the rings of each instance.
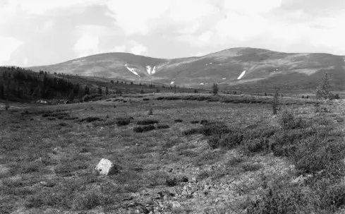
[[155, 59], [128, 53], [97, 54], [30, 69], [156, 81], [186, 86], [314, 90], [325, 72], [335, 90], [345, 90], [345, 57], [321, 53], [282, 53], [248, 47], [202, 57]]

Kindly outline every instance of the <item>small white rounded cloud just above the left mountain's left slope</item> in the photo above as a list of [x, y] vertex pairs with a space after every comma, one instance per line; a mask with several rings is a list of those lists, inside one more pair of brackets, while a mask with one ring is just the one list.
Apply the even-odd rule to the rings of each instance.
[[99, 37], [85, 34], [75, 42], [73, 49], [78, 57], [99, 54]]

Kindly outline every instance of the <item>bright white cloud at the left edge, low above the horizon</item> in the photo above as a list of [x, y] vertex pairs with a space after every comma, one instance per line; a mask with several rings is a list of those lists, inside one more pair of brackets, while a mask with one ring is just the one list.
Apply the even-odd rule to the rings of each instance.
[[11, 59], [13, 52], [22, 44], [19, 40], [12, 37], [0, 36], [0, 64], [4, 64]]

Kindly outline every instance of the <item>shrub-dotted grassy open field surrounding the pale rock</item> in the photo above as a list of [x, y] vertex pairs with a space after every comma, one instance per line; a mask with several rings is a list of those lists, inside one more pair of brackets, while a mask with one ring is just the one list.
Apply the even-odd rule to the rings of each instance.
[[344, 212], [345, 102], [271, 99], [0, 103], [0, 213]]

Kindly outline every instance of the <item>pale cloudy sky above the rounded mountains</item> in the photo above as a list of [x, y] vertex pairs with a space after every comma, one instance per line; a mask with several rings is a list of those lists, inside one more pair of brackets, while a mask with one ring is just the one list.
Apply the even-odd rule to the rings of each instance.
[[344, 0], [0, 0], [0, 66], [232, 47], [345, 55]]

